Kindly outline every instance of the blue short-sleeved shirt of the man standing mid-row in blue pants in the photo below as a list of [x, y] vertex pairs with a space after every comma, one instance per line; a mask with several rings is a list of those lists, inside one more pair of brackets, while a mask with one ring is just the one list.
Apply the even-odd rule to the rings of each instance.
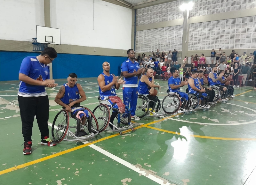
[[[139, 63], [137, 61], [134, 61], [134, 63], [128, 58], [128, 60], [124, 61], [122, 64], [122, 71], [127, 71], [128, 73], [133, 73], [134, 71], [138, 71], [139, 69]], [[124, 81], [126, 81], [125, 84], [123, 84], [123, 87], [138, 87], [138, 77], [137, 74], [130, 78], [124, 78]]]

